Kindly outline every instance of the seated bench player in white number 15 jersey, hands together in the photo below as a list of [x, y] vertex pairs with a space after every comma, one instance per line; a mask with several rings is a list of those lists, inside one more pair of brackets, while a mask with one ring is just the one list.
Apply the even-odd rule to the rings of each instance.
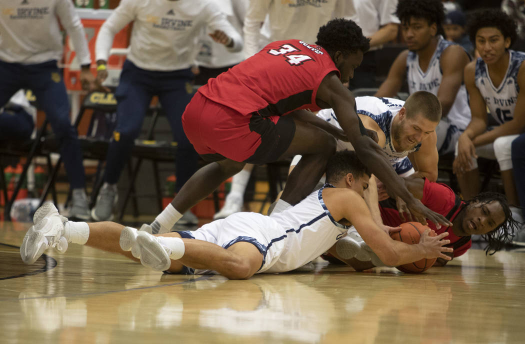
[[[500, 10], [476, 13], [467, 30], [481, 57], [465, 67], [472, 120], [459, 137], [454, 173], [464, 199], [470, 199], [479, 192], [476, 159], [497, 159], [509, 204], [518, 206], [511, 143], [525, 130], [525, 54], [509, 49], [517, 36], [516, 24]], [[495, 127], [488, 126], [487, 108], [498, 123]], [[511, 210], [518, 219], [520, 211]]]

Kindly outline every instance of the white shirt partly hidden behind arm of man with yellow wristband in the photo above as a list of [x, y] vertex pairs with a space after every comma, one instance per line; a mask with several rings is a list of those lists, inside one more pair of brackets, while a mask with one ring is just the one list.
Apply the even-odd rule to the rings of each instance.
[[[220, 11], [226, 15], [228, 22], [239, 34], [243, 32], [244, 17], [248, 11], [249, 0], [217, 0], [220, 2]], [[204, 31], [204, 30], [203, 30]], [[222, 68], [233, 66], [244, 60], [244, 52], [232, 53], [224, 46], [217, 43], [206, 32], [199, 39], [201, 48], [197, 55], [197, 65], [207, 68]]]

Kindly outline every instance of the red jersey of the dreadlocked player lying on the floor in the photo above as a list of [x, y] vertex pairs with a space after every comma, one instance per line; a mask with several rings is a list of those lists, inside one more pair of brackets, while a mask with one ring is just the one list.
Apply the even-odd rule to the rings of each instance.
[[[456, 195], [450, 187], [442, 183], [430, 182], [427, 179], [425, 179], [423, 198], [421, 202], [428, 209], [445, 216], [450, 222], [456, 218], [459, 211], [465, 206], [465, 202], [461, 201], [459, 196]], [[402, 223], [394, 200], [388, 199], [381, 201], [379, 210], [381, 211], [381, 217], [385, 225], [396, 227]], [[436, 231], [437, 234], [448, 232], [446, 239], [450, 240], [450, 247], [461, 238], [452, 232], [451, 227], [442, 226], [438, 230], [436, 225], [430, 221], [427, 221], [427, 225]], [[472, 241], [469, 240], [466, 244], [454, 249], [454, 257], [464, 254], [471, 246]]]

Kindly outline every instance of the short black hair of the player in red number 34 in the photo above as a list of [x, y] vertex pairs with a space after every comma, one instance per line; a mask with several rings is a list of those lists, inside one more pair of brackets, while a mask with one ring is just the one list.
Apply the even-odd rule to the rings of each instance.
[[329, 54], [341, 51], [344, 55], [364, 53], [370, 49], [370, 38], [363, 36], [363, 30], [353, 20], [335, 18], [319, 28], [317, 45], [320, 45]]

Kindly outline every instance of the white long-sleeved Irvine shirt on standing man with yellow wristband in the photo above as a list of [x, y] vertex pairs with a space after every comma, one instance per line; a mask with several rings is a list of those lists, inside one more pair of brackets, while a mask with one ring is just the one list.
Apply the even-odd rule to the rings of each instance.
[[134, 21], [127, 58], [147, 70], [178, 70], [193, 65], [202, 28], [222, 30], [240, 51], [243, 39], [214, 0], [122, 0], [100, 28], [97, 60], [107, 60], [114, 36]]

